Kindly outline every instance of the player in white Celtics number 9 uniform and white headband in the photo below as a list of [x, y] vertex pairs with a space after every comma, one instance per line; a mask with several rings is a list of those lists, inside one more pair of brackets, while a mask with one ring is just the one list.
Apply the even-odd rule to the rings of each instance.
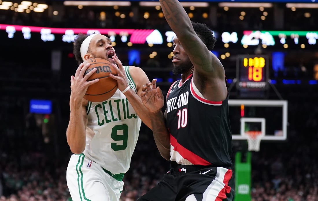
[[[80, 65], [71, 77], [66, 137], [74, 154], [66, 171], [67, 186], [73, 201], [118, 201], [141, 121], [151, 128], [148, 111], [140, 98], [143, 84], [149, 79], [141, 68], [123, 67], [111, 40], [104, 35], [79, 34], [73, 52]], [[117, 69], [110, 76], [117, 80], [118, 89], [103, 102], [83, 98], [88, 86], [98, 82], [87, 81], [96, 70], [84, 76], [90, 65], [85, 61], [90, 58], [106, 59]]]

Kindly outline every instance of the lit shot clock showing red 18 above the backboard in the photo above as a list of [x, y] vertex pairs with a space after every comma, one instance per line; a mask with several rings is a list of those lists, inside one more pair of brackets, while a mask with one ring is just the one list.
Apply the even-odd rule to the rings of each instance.
[[236, 62], [237, 88], [263, 91], [268, 88], [268, 56], [238, 55]]

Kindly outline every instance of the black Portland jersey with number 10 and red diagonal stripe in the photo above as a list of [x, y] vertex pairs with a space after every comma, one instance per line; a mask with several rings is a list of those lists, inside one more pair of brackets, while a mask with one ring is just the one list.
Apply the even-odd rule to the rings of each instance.
[[231, 167], [229, 93], [225, 101], [208, 101], [196, 93], [192, 76], [174, 82], [167, 94], [170, 161]]

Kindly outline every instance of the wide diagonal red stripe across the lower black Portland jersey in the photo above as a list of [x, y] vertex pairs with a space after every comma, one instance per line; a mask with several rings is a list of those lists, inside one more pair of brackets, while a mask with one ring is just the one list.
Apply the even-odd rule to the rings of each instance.
[[[173, 150], [178, 152], [183, 159], [187, 159], [190, 163], [194, 165], [212, 165], [210, 162], [202, 159], [197, 154], [190, 152], [188, 149], [183, 147], [177, 142], [177, 139], [173, 137], [170, 133], [170, 144], [174, 147]], [[178, 161], [176, 161], [178, 163]]]

